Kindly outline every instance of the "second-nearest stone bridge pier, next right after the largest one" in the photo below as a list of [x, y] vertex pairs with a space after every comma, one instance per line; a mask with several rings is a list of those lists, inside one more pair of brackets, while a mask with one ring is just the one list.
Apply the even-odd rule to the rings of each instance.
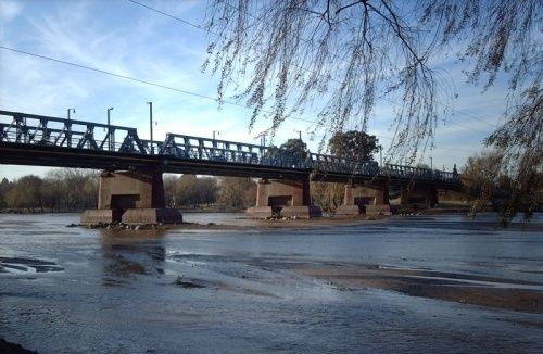
[[311, 205], [310, 179], [261, 179], [256, 190], [256, 205], [247, 210], [251, 217], [318, 217], [319, 207]]

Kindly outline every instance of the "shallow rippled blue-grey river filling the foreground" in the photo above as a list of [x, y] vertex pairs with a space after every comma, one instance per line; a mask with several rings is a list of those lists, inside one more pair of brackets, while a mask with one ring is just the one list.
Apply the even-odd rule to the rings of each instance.
[[[239, 229], [114, 233], [65, 227], [77, 215], [0, 215], [0, 337], [40, 353], [543, 351], [541, 228], [432, 216], [269, 229], [237, 216], [185, 219]], [[532, 302], [481, 306], [463, 287]]]

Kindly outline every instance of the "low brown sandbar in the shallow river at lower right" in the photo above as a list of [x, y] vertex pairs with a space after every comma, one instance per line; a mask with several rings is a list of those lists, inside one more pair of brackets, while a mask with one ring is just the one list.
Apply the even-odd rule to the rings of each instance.
[[[543, 314], [543, 282], [376, 265], [292, 266], [291, 269], [345, 291], [372, 288], [409, 296]], [[543, 323], [532, 325], [543, 329]]]

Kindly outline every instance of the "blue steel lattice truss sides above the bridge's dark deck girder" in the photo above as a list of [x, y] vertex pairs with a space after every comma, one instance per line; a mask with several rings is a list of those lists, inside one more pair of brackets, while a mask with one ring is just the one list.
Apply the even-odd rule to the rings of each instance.
[[[164, 141], [143, 140], [136, 128], [78, 119], [0, 111], [0, 142], [17, 142], [93, 151], [169, 155], [177, 159], [315, 169], [359, 176], [457, 182], [458, 174], [429, 168], [293, 151], [276, 147], [167, 134]], [[10, 123], [2, 123], [10, 122]]]

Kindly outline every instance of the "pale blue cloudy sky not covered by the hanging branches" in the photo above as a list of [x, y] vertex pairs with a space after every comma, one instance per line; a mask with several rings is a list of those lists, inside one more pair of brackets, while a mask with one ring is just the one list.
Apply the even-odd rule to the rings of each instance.
[[[0, 110], [65, 117], [75, 109], [75, 119], [106, 122], [136, 127], [149, 138], [149, 105], [153, 102], [153, 138], [166, 132], [258, 143], [258, 132], [269, 122], [258, 121], [249, 131], [251, 109], [218, 106], [214, 100], [218, 78], [202, 73], [209, 34], [201, 25], [205, 0], [138, 0], [157, 13], [129, 0], [0, 0]], [[177, 17], [177, 20], [173, 18]], [[8, 48], [8, 49], [7, 49]], [[11, 49], [11, 50], [10, 50]], [[38, 54], [77, 65], [149, 81], [146, 85], [118, 76], [45, 60]], [[484, 94], [467, 85], [462, 64], [451, 60], [433, 64], [449, 80], [457, 98], [447, 102], [440, 117], [434, 146], [419, 162], [440, 169], [459, 168], [469, 156], [484, 149], [482, 141], [502, 122], [507, 89], [500, 79]], [[387, 149], [392, 136], [394, 103], [379, 100], [368, 134]], [[274, 143], [298, 137], [317, 152], [318, 134], [310, 141], [311, 113], [287, 121]], [[4, 122], [7, 117], [0, 117]], [[393, 156], [392, 156], [393, 157]], [[376, 156], [379, 161], [379, 156]], [[50, 168], [0, 165], [0, 179], [24, 175], [43, 176]]]

